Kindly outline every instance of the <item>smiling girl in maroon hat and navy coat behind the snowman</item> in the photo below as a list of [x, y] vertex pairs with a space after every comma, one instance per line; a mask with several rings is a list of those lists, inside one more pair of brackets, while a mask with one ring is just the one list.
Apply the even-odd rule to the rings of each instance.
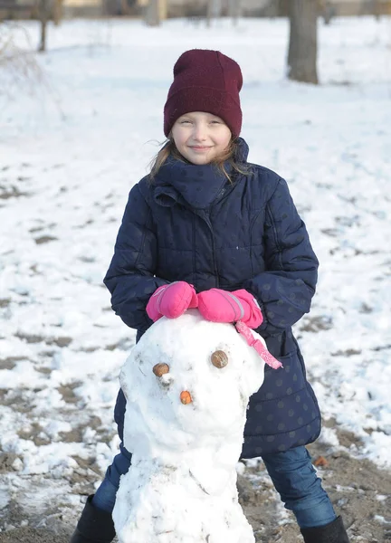
[[[194, 307], [196, 292], [199, 310], [211, 320], [220, 319], [212, 300], [216, 291], [227, 299], [226, 291], [239, 289], [231, 300], [250, 313], [253, 298], [258, 302], [262, 324], [256, 331], [283, 367], [266, 367], [264, 383], [251, 398], [242, 457], [262, 456], [304, 541], [346, 543], [342, 520], [305, 448], [319, 436], [320, 414], [291, 331], [310, 310], [318, 261], [285, 181], [247, 162], [248, 147], [239, 138], [242, 84], [239, 65], [221, 52], [192, 50], [179, 57], [164, 110], [168, 140], [151, 173], [130, 191], [104, 282], [113, 310], [138, 330], [138, 338], [152, 324], [150, 317], [172, 318]], [[163, 298], [170, 289], [175, 296], [149, 301], [157, 289]], [[178, 289], [184, 289], [179, 310], [172, 305]], [[124, 412], [119, 391], [115, 419], [121, 439]], [[72, 543], [109, 543], [115, 537], [111, 511], [130, 461], [121, 444], [87, 500]]]

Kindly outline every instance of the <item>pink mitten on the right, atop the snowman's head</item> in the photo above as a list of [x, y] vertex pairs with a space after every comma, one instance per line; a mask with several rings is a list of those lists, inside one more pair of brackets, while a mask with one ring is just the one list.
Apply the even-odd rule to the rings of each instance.
[[262, 324], [262, 312], [250, 292], [228, 292], [220, 289], [200, 292], [198, 310], [206, 320], [212, 322], [237, 322], [241, 320], [251, 329]]

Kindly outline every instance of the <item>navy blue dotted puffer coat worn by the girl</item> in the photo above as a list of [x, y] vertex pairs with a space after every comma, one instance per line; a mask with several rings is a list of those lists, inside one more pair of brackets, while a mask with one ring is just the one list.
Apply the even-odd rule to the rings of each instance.
[[[319, 435], [318, 403], [291, 331], [310, 310], [318, 260], [286, 182], [246, 163], [247, 154], [241, 140], [237, 159], [250, 173], [234, 173], [232, 184], [212, 165], [169, 158], [153, 181], [133, 186], [104, 282], [113, 310], [138, 337], [151, 325], [149, 297], [167, 282], [253, 293], [263, 314], [257, 332], [283, 367], [266, 367], [251, 397], [242, 456], [252, 458]], [[120, 435], [124, 408], [119, 394]]]

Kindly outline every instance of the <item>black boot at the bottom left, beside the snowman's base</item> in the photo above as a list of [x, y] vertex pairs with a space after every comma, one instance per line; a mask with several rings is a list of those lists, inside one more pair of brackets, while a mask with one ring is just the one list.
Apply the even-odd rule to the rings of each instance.
[[110, 513], [94, 507], [92, 498], [93, 494], [87, 498], [70, 543], [111, 543], [115, 538], [114, 522]]

